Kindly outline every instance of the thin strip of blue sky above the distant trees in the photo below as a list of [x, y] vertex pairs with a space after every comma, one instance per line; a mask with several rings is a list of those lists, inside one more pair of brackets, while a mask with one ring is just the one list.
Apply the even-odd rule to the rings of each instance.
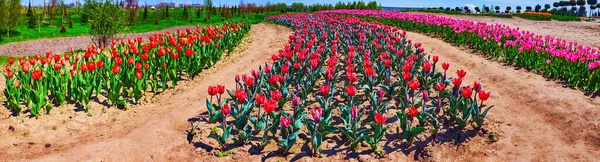
[[[21, 0], [23, 4], [29, 3], [30, 0]], [[33, 0], [34, 4], [43, 4], [43, 0]], [[77, 2], [77, 0], [64, 0], [66, 3], [69, 2]], [[84, 0], [80, 0], [83, 2]], [[335, 4], [340, 0], [244, 0], [244, 2], [254, 2], [258, 5], [265, 4], [266, 2], [271, 3], [286, 3], [291, 5], [293, 2], [302, 2], [304, 4]], [[345, 2], [352, 0], [342, 0]], [[364, 2], [368, 2], [370, 0], [363, 0]], [[552, 4], [558, 0], [376, 0], [378, 3], [381, 3], [385, 7], [457, 7], [464, 6], [466, 4], [473, 4], [475, 6], [483, 6], [485, 5], [500, 5], [504, 8], [504, 6], [510, 5], [513, 8], [515, 6], [535, 6], [536, 4]], [[140, 4], [155, 4], [158, 2], [173, 2], [179, 4], [192, 4], [192, 3], [202, 3], [203, 0], [139, 0]], [[227, 5], [237, 5], [240, 3], [240, 0], [213, 0], [216, 5], [219, 4], [227, 4]]]

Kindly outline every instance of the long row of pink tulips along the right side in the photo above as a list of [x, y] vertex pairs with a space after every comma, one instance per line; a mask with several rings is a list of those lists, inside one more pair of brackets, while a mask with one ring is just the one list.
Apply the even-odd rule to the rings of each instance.
[[501, 24], [458, 20], [431, 14], [370, 10], [335, 10], [323, 13], [358, 15], [406, 30], [437, 35], [456, 45], [468, 45], [488, 57], [527, 68], [547, 78], [559, 79], [583, 91], [600, 90], [600, 50], [539, 36]]

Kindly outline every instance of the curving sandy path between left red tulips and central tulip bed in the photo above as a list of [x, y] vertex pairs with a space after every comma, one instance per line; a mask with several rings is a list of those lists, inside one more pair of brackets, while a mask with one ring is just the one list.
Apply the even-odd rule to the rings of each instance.
[[[3, 140], [0, 141], [0, 159], [190, 161], [200, 158], [194, 156], [194, 146], [187, 143], [184, 130], [189, 128], [186, 119], [201, 112], [208, 96], [206, 87], [213, 84], [233, 87], [236, 74], [248, 73], [263, 64], [283, 47], [290, 33], [282, 26], [255, 25], [250, 31], [247, 46], [240, 47], [243, 52], [221, 61], [218, 68], [203, 72], [202, 78], [181, 82], [179, 88], [157, 96], [153, 103], [135, 106], [128, 111], [111, 108], [102, 113], [100, 108], [96, 108], [92, 110], [92, 117], [86, 117], [83, 112], [67, 111], [69, 115], [66, 116], [60, 113], [46, 115], [39, 120], [27, 118], [24, 123], [14, 117], [1, 119], [0, 138]], [[66, 122], [61, 124], [61, 121]], [[52, 125], [55, 124], [58, 128], [53, 130]], [[8, 131], [8, 125], [15, 127], [16, 131]], [[23, 132], [28, 134], [22, 135]]]

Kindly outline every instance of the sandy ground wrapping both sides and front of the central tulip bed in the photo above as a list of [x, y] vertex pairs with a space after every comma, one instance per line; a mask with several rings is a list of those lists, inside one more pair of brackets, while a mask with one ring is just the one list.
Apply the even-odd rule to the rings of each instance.
[[[206, 87], [233, 87], [236, 74], [247, 73], [269, 59], [286, 42], [290, 30], [258, 24], [250, 31], [241, 53], [221, 61], [217, 68], [194, 81], [184, 81], [176, 90], [157, 96], [153, 102], [128, 111], [114, 108], [92, 110], [93, 116], [56, 108], [41, 119], [0, 119], [0, 159], [10, 161], [594, 161], [600, 157], [600, 101], [554, 81], [473, 55], [438, 39], [410, 33], [427, 52], [450, 62], [450, 71], [467, 70], [464, 83], [481, 81], [492, 92], [488, 104], [496, 105], [486, 128], [499, 141], [474, 136], [461, 145], [436, 144], [431, 158], [420, 159], [422, 150], [400, 149], [374, 159], [372, 154], [348, 158], [343, 148], [325, 144], [325, 158], [306, 153], [277, 156], [249, 154], [251, 147], [238, 147], [218, 158], [211, 152], [218, 144], [205, 135], [214, 124], [201, 125], [199, 143], [188, 144], [187, 120], [205, 113]], [[235, 53], [235, 52], [234, 52]], [[1, 110], [0, 116], [8, 116]], [[56, 130], [53, 127], [56, 126]], [[205, 141], [205, 142], [203, 142]], [[212, 142], [211, 142], [212, 141]], [[13, 144], [16, 144], [13, 145]], [[345, 146], [342, 146], [345, 147]]]

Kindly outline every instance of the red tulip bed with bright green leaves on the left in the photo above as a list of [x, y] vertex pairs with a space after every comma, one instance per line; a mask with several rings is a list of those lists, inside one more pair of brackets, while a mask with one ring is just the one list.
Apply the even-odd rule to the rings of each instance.
[[[214, 65], [240, 43], [247, 23], [198, 27], [143, 39], [113, 40], [105, 47], [64, 55], [9, 58], [5, 74], [7, 107], [15, 115], [25, 105], [36, 118], [53, 107], [73, 102], [89, 110], [91, 99], [104, 96], [112, 106], [127, 108], [147, 92], [175, 87]], [[16, 62], [15, 62], [16, 61]], [[18, 63], [18, 65], [13, 65]], [[15, 67], [15, 68], [13, 68]]]

